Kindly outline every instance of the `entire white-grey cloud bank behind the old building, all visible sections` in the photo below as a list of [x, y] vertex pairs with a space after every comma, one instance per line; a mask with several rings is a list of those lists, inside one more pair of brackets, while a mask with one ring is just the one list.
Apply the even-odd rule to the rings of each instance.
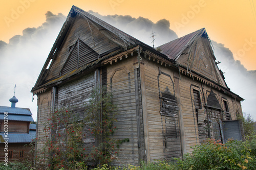
[[[154, 23], [143, 17], [133, 18], [129, 15], [102, 16], [93, 11], [89, 11], [89, 13], [151, 46], [153, 46], [152, 31], [157, 35], [155, 46], [160, 46], [178, 38], [177, 34], [169, 29], [170, 23], [166, 19]], [[36, 101], [32, 103], [30, 90], [34, 86], [65, 20], [66, 16], [61, 13], [55, 15], [48, 11], [46, 22], [42, 23], [40, 27], [25, 29], [23, 35], [13, 36], [9, 43], [0, 41], [1, 106], [11, 106], [9, 99], [12, 98], [14, 84], [16, 84], [16, 98], [19, 100], [16, 106], [30, 108], [33, 118], [36, 120], [37, 106]], [[212, 41], [212, 44], [215, 48], [217, 61], [221, 61], [218, 66], [226, 72], [224, 76], [228, 87], [246, 99], [242, 103], [242, 109], [254, 116], [255, 119], [256, 114], [253, 115], [253, 111], [256, 109], [256, 105], [253, 101], [255, 101], [256, 96], [256, 70], [246, 70], [240, 61], [234, 60], [233, 54], [224, 44], [215, 41]]]

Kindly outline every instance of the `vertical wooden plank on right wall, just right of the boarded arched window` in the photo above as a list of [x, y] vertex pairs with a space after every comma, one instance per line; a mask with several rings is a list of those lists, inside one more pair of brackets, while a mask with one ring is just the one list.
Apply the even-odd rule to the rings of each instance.
[[183, 156], [186, 153], [186, 140], [185, 140], [185, 133], [184, 133], [182, 104], [181, 104], [181, 100], [180, 100], [179, 74], [176, 71], [174, 71], [174, 84], [175, 84], [177, 105], [179, 107], [180, 140], [181, 140], [181, 151], [182, 151], [182, 156]]

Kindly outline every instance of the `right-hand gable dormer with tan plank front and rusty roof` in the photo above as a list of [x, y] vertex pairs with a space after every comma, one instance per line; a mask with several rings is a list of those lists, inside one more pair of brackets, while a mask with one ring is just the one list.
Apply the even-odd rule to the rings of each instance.
[[215, 62], [216, 58], [204, 28], [159, 47], [162, 50], [161, 53], [174, 59], [187, 71], [194, 72], [228, 88], [224, 76]]

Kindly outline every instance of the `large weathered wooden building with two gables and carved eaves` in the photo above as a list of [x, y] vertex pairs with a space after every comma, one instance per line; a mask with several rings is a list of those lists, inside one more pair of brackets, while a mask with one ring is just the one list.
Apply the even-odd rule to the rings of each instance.
[[130, 139], [116, 165], [180, 157], [208, 137], [225, 142], [230, 124], [242, 138], [243, 99], [226, 85], [205, 29], [156, 50], [73, 6], [32, 89], [37, 137], [52, 110], [82, 110], [105, 84], [118, 106], [113, 137]]

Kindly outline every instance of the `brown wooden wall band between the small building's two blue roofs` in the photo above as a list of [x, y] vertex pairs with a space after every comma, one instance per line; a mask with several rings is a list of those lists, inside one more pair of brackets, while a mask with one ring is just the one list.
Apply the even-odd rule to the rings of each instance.
[[[30, 122], [11, 120], [8, 122], [8, 132], [29, 133], [29, 124]], [[1, 122], [0, 125], [0, 132], [4, 132], [4, 123]]]

